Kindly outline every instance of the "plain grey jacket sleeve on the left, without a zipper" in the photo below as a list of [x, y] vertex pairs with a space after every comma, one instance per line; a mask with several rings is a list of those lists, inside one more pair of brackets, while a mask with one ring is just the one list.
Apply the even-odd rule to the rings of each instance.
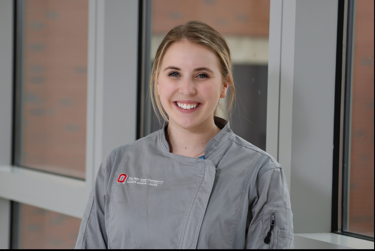
[[105, 199], [111, 173], [111, 157], [102, 162], [96, 176], [94, 190], [84, 211], [75, 249], [106, 249], [108, 238], [105, 227]]

